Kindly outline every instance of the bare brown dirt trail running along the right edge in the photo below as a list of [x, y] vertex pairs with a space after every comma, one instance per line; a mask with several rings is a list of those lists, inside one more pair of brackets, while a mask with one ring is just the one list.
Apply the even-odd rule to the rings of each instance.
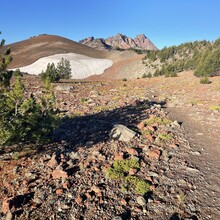
[[[201, 176], [194, 183], [197, 186], [196, 195], [199, 205], [205, 210], [205, 219], [220, 218], [220, 141], [219, 136], [213, 133], [214, 128], [206, 129], [201, 126], [201, 121], [194, 120], [187, 116], [188, 109], [168, 108], [170, 116], [183, 122], [186, 138], [191, 145], [192, 154], [189, 158], [192, 165], [197, 167]], [[208, 215], [207, 215], [208, 213]]]

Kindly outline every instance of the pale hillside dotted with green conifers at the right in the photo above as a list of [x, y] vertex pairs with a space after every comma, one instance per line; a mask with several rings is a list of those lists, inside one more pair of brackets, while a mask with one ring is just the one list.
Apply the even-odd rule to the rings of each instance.
[[193, 70], [196, 76], [219, 75], [219, 39], [215, 42], [195, 41], [179, 46], [165, 47], [160, 51], [148, 51], [143, 58], [146, 73], [152, 76], [176, 76]]

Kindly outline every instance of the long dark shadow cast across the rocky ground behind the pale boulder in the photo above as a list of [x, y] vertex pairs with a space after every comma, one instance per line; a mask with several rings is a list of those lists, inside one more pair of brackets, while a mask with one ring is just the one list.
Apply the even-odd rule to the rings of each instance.
[[132, 105], [114, 110], [64, 118], [54, 132], [54, 141], [65, 141], [72, 149], [108, 141], [114, 125], [123, 124], [135, 131], [137, 123], [149, 117], [145, 110], [156, 105], [163, 107], [165, 103], [137, 100]]

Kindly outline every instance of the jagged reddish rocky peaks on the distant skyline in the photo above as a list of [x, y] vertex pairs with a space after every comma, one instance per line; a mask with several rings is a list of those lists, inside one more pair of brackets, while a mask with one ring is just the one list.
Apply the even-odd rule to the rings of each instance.
[[88, 37], [79, 43], [97, 49], [141, 49], [158, 50], [157, 47], [144, 34], [137, 35], [134, 39], [123, 34], [109, 37], [107, 39]]

